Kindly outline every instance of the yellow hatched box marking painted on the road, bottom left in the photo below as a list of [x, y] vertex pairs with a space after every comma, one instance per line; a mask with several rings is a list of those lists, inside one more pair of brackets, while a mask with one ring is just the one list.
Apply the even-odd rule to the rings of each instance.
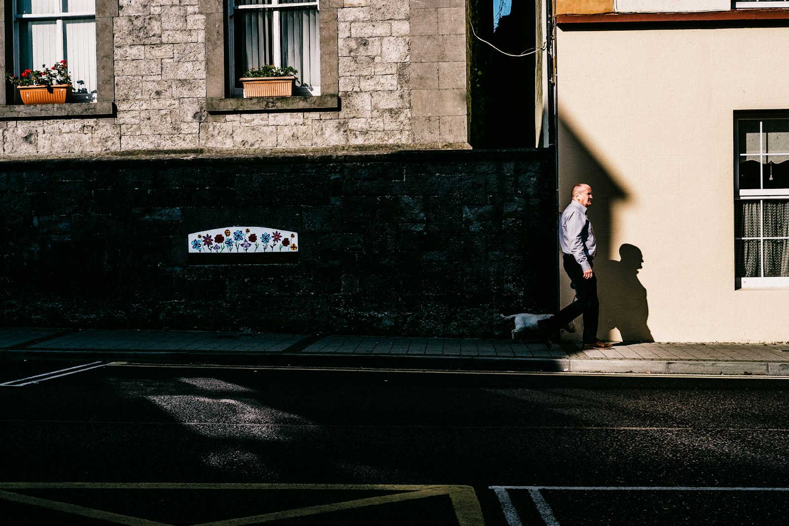
[[429, 498], [436, 495], [448, 495], [452, 502], [455, 517], [460, 526], [484, 525], [482, 509], [473, 487], [454, 485], [403, 485], [403, 484], [267, 484], [267, 483], [0, 483], [0, 488], [12, 491], [0, 491], [0, 499], [24, 504], [37, 505], [43, 508], [55, 509], [65, 513], [73, 513], [84, 517], [93, 517], [114, 522], [115, 524], [129, 524], [131, 526], [172, 526], [153, 520], [139, 517], [128, 517], [118, 513], [111, 513], [99, 509], [91, 509], [66, 502], [53, 501], [46, 498], [30, 497], [24, 494], [13, 493], [13, 490], [24, 489], [236, 489], [236, 490], [346, 490], [346, 491], [404, 491], [405, 493], [388, 494], [380, 497], [361, 498], [353, 501], [334, 502], [325, 505], [307, 506], [297, 509], [285, 509], [273, 513], [263, 513], [251, 517], [218, 520], [210, 523], [195, 524], [193, 526], [243, 526], [245, 524], [260, 524], [272, 520], [284, 520], [292, 517], [305, 517], [322, 513], [332, 513], [345, 509], [356, 509], [373, 505], [387, 504], [389, 502], [404, 502], [418, 498]]

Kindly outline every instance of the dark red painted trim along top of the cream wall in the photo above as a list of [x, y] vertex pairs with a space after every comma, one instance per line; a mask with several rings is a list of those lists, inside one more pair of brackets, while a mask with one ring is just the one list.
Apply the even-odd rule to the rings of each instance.
[[703, 13], [605, 13], [557, 15], [556, 24], [682, 24], [749, 21], [789, 21], [789, 9], [730, 9]]

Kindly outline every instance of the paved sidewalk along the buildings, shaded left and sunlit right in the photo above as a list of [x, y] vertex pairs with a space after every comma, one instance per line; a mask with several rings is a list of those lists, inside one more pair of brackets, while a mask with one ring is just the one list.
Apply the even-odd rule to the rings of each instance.
[[789, 343], [635, 343], [582, 351], [508, 339], [0, 327], [0, 356], [480, 371], [789, 376]]

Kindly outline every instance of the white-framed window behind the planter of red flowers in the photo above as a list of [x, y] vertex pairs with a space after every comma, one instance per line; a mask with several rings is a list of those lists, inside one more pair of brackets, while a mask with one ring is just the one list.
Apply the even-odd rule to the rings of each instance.
[[13, 13], [14, 73], [65, 60], [69, 102], [95, 100], [95, 0], [13, 0]]

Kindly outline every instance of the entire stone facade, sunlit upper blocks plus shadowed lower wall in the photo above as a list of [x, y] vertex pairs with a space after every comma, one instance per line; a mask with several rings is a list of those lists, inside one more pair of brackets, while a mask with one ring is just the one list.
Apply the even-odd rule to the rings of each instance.
[[[225, 2], [96, 0], [95, 103], [0, 90], [2, 323], [508, 337], [555, 308], [553, 151], [471, 151], [466, 10], [321, 0], [320, 94], [243, 99]], [[299, 250], [189, 255], [234, 225]]]

